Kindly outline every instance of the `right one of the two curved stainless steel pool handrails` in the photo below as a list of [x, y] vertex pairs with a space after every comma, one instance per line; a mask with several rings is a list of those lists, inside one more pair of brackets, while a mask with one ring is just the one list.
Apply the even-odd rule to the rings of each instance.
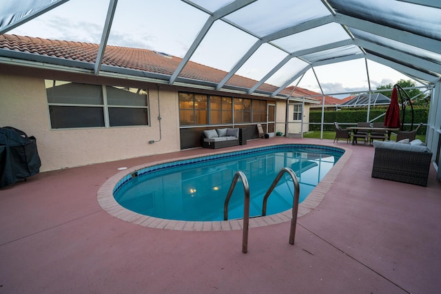
[[294, 239], [296, 238], [296, 225], [297, 225], [297, 212], [298, 212], [298, 200], [300, 197], [300, 184], [298, 182], [298, 178], [296, 176], [296, 173], [289, 167], [283, 167], [283, 169], [280, 169], [278, 175], [274, 179], [271, 187], [269, 187], [267, 193], [265, 193], [265, 196], [263, 196], [263, 205], [262, 205], [262, 216], [267, 215], [267, 200], [271, 192], [276, 187], [278, 181], [280, 178], [282, 178], [283, 174], [289, 174], [292, 178], [292, 182], [294, 184], [294, 199], [292, 204], [292, 218], [291, 218], [291, 229], [289, 231], [289, 244], [294, 245]]

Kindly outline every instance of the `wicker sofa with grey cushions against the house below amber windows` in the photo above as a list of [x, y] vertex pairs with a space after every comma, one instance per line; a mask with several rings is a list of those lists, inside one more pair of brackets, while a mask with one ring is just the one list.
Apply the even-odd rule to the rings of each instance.
[[202, 134], [204, 148], [218, 149], [239, 145], [239, 129], [207, 129]]

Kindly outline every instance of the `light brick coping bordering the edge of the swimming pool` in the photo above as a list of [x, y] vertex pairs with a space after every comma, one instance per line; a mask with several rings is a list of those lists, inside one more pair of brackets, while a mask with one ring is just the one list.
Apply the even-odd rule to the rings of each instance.
[[[269, 144], [265, 147], [276, 146], [276, 145], [286, 145], [286, 144]], [[291, 145], [291, 144], [290, 144]], [[292, 145], [305, 145], [305, 144], [296, 144]], [[325, 146], [325, 147], [333, 147], [338, 149], [343, 149], [345, 152], [342, 154], [337, 163], [332, 167], [329, 172], [326, 174], [318, 185], [309, 193], [309, 196], [299, 204], [297, 217], [305, 216], [310, 211], [313, 211], [318, 207], [318, 204], [322, 202], [323, 198], [327, 191], [331, 188], [336, 180], [340, 171], [345, 166], [345, 163], [349, 159], [352, 154], [352, 150], [345, 147], [335, 147], [325, 144], [307, 144], [307, 145], [316, 145], [316, 146]], [[243, 148], [242, 150], [247, 149], [255, 149], [256, 147]], [[209, 154], [204, 154], [204, 156], [213, 156], [218, 154], [229, 153], [228, 151], [216, 151]], [[155, 218], [152, 216], [145, 216], [140, 213], [136, 213], [134, 211], [130, 211], [122, 207], [118, 202], [116, 202], [113, 197], [114, 187], [119, 183], [121, 179], [123, 179], [128, 174], [132, 174], [139, 169], [144, 169], [146, 167], [150, 167], [152, 165], [160, 165], [167, 162], [174, 162], [177, 160], [187, 160], [192, 158], [199, 158], [200, 155], [195, 156], [183, 156], [179, 158], [172, 158], [168, 160], [158, 160], [156, 162], [149, 162], [145, 165], [136, 165], [134, 167], [129, 167], [123, 171], [119, 171], [114, 176], [107, 179], [103, 185], [98, 190], [97, 200], [100, 206], [107, 211], [110, 215], [124, 220], [126, 222], [131, 222], [132, 224], [137, 224], [143, 227], [150, 227], [156, 229], [170, 229], [175, 231], [232, 231], [232, 230], [240, 230], [243, 229], [243, 220], [220, 220], [220, 221], [182, 221], [182, 220], [167, 220], [163, 218]], [[249, 218], [249, 228], [254, 227], [265, 227], [271, 224], [279, 224], [281, 222], [290, 221], [292, 218], [292, 209], [288, 209], [286, 211], [282, 211], [280, 213], [272, 214], [270, 216], [260, 216], [256, 218]]]

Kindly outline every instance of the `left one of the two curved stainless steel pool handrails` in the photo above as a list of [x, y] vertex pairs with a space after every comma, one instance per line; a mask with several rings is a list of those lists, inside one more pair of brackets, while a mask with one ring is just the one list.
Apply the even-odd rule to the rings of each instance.
[[236, 182], [242, 180], [244, 191], [244, 203], [243, 203], [243, 234], [242, 234], [242, 253], [248, 252], [248, 223], [249, 223], [249, 185], [247, 176], [242, 171], [236, 171], [232, 180], [232, 185], [229, 186], [227, 198], [225, 198], [225, 204], [223, 207], [223, 219], [228, 220], [228, 202], [232, 197]]

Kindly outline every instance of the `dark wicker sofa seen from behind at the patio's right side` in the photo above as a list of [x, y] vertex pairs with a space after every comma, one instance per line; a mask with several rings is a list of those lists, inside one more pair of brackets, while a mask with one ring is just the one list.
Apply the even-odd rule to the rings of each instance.
[[372, 178], [427, 186], [432, 152], [420, 140], [411, 144], [375, 141], [373, 147]]

